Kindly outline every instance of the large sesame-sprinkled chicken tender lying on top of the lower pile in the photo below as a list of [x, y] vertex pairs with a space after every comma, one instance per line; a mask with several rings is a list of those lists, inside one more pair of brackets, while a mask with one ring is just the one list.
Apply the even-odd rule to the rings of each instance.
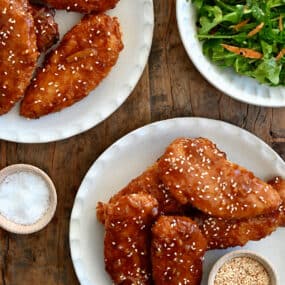
[[227, 160], [208, 139], [176, 139], [159, 160], [161, 179], [182, 204], [225, 219], [271, 213], [281, 204], [272, 186]]

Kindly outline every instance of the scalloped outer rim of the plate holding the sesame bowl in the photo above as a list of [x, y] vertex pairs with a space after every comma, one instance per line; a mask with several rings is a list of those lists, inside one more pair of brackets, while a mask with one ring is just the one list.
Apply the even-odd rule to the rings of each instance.
[[[81, 256], [81, 250], [80, 250], [80, 240], [77, 238], [77, 230], [80, 226], [80, 220], [81, 220], [81, 211], [84, 197], [86, 195], [86, 190], [87, 188], [85, 187], [84, 184], [88, 182], [88, 180], [92, 180], [92, 176], [94, 171], [96, 171], [96, 166], [97, 164], [104, 163], [107, 159], [105, 157], [108, 157], [109, 152], [114, 152], [118, 151], [120, 146], [123, 146], [125, 142], [128, 141], [130, 137], [137, 137], [137, 136], [147, 136], [147, 133], [156, 127], [161, 127], [163, 125], [175, 125], [175, 124], [194, 124], [198, 123], [200, 125], [205, 125], [205, 124], [212, 124], [215, 127], [224, 127], [226, 130], [232, 130], [232, 132], [236, 136], [242, 136], [245, 140], [254, 140], [254, 145], [261, 149], [263, 152], [263, 155], [266, 156], [270, 155], [270, 157], [273, 159], [276, 163], [278, 163], [278, 167], [281, 167], [283, 172], [285, 172], [285, 162], [283, 159], [279, 156], [277, 152], [275, 152], [268, 144], [266, 144], [263, 140], [255, 136], [254, 134], [250, 133], [247, 130], [244, 130], [238, 126], [235, 126], [233, 124], [221, 121], [221, 120], [214, 120], [214, 119], [207, 119], [207, 118], [201, 118], [201, 117], [178, 117], [178, 118], [173, 118], [173, 119], [167, 119], [163, 121], [157, 121], [148, 125], [145, 125], [141, 128], [138, 128], [119, 140], [117, 140], [115, 143], [113, 143], [110, 147], [108, 147], [92, 164], [92, 166], [89, 168], [88, 172], [86, 173], [84, 179], [82, 180], [82, 183], [78, 189], [78, 192], [76, 194], [72, 212], [71, 212], [71, 217], [70, 217], [70, 225], [69, 225], [69, 245], [70, 245], [70, 253], [71, 253], [71, 258], [73, 262], [73, 266], [76, 272], [76, 275], [80, 281], [81, 285], [91, 285], [91, 283], [88, 280], [87, 274], [85, 273], [84, 269], [84, 261]], [[281, 171], [280, 171], [281, 172]]]

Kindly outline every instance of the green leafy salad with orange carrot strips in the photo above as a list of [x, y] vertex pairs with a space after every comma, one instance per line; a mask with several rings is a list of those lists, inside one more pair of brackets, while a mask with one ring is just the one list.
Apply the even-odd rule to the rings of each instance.
[[285, 85], [285, 0], [192, 0], [198, 38], [213, 62]]

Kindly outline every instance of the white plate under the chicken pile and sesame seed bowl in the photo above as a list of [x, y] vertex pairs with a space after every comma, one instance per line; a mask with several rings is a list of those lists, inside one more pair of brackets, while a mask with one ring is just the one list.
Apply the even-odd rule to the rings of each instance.
[[[207, 137], [217, 143], [229, 158], [263, 179], [284, 175], [284, 161], [264, 142], [233, 125], [202, 118], [177, 118], [140, 128], [108, 148], [93, 164], [77, 193], [70, 222], [70, 247], [73, 264], [81, 285], [112, 284], [104, 270], [104, 228], [96, 220], [98, 201], [109, 198], [138, 176], [164, 152], [177, 137]], [[95, 143], [95, 142], [94, 142]], [[247, 248], [266, 255], [285, 284], [285, 229]], [[204, 264], [209, 266], [223, 253], [212, 251]], [[283, 259], [282, 259], [283, 258]], [[203, 285], [207, 284], [205, 281]]]

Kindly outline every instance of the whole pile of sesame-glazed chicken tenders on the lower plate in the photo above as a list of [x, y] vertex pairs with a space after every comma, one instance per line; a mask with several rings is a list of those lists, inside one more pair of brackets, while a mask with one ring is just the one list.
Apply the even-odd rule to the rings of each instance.
[[[148, 215], [151, 200], [155, 214]], [[147, 230], [139, 234], [142, 214], [140, 230]], [[210, 140], [180, 138], [107, 204], [99, 202], [97, 218], [109, 229], [105, 261], [115, 284], [198, 285], [206, 250], [244, 246], [284, 224], [285, 180], [267, 184]]]

